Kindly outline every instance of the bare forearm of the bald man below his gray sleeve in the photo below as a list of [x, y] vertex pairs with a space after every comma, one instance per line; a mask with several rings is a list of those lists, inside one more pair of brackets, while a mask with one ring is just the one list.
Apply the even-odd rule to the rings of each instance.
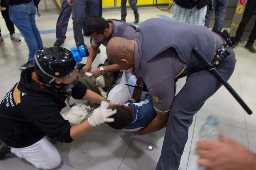
[[156, 117], [145, 128], [133, 132], [136, 135], [145, 135], [147, 133], [158, 131], [167, 125], [169, 113], [162, 114], [156, 111]]

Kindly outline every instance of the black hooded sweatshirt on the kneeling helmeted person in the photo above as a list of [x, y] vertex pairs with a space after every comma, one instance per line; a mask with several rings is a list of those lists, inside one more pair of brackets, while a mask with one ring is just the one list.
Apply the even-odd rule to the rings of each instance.
[[[0, 139], [14, 148], [30, 146], [45, 135], [60, 142], [73, 141], [70, 123], [61, 116], [66, 104], [50, 87], [41, 90], [31, 79], [34, 68], [21, 72], [21, 80], [5, 95], [0, 104]], [[87, 88], [80, 81], [72, 97], [82, 99]]]

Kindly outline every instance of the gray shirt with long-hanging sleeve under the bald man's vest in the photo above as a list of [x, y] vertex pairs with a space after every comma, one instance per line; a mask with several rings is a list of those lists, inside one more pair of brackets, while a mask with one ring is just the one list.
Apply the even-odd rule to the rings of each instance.
[[160, 113], [168, 113], [175, 96], [175, 78], [184, 71], [183, 63], [174, 48], [168, 48], [149, 61], [142, 61], [142, 35], [136, 32], [134, 39], [135, 71], [143, 78], [153, 99], [153, 107]]

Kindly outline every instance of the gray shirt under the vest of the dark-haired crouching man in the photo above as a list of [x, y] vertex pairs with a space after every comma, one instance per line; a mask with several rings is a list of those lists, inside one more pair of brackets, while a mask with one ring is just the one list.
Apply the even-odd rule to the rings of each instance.
[[[121, 26], [123, 24], [122, 21], [116, 21], [116, 20], [108, 20], [108, 22], [112, 22], [113, 24], [113, 33], [112, 36], [108, 37], [107, 40], [103, 43], [96, 43], [95, 40], [92, 41], [92, 43], [96, 46], [100, 46], [101, 44], [103, 44], [104, 46], [107, 46], [107, 43], [109, 42], [109, 40], [113, 37], [117, 37], [117, 33], [118, 33], [118, 28], [119, 26]], [[134, 40], [135, 37], [135, 29], [132, 26], [127, 26], [123, 32], [123, 34], [121, 35], [122, 38], [126, 38], [127, 40]]]

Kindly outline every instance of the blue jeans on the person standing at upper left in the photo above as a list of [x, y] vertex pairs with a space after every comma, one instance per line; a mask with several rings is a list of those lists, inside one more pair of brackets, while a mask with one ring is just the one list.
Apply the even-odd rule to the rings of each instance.
[[34, 55], [37, 50], [43, 48], [43, 42], [35, 23], [35, 14], [36, 10], [33, 1], [9, 6], [10, 19], [21, 31], [21, 35], [27, 43], [29, 62], [34, 61]]

